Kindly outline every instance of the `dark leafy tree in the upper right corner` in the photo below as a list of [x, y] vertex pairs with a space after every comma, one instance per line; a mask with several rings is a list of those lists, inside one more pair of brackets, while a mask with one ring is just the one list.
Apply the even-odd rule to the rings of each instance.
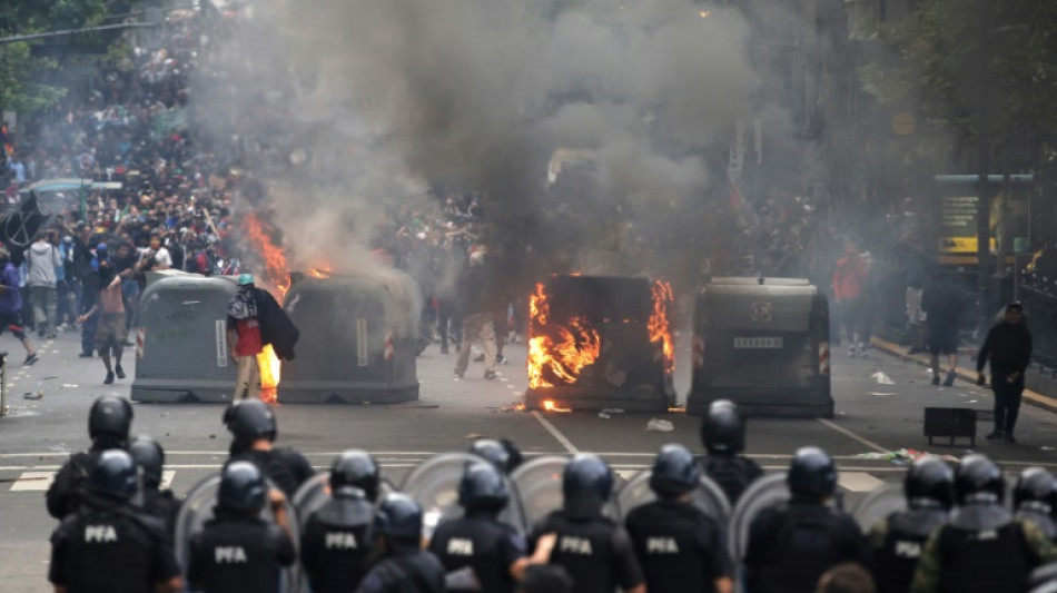
[[933, 134], [912, 152], [971, 170], [982, 122], [995, 166], [1033, 169], [1057, 137], [1057, 2], [919, 0], [881, 39], [901, 60], [860, 75], [882, 105], [917, 105], [926, 116]]

